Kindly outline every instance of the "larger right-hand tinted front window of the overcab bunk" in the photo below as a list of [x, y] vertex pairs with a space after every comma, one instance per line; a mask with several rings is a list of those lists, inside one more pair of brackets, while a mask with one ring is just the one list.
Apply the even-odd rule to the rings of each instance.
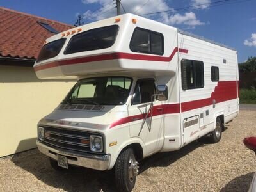
[[115, 43], [118, 28], [114, 25], [78, 33], [72, 36], [64, 53], [71, 54], [111, 47]]

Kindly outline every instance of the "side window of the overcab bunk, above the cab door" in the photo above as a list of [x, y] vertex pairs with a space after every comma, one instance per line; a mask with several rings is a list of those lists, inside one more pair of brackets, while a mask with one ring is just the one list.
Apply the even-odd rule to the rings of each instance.
[[132, 52], [164, 54], [163, 34], [143, 28], [135, 28], [130, 42]]

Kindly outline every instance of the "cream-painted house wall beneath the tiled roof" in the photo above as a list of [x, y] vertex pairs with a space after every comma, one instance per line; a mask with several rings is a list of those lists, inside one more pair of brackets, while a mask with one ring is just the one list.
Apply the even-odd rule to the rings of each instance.
[[75, 81], [42, 81], [32, 67], [0, 65], [0, 157], [36, 147], [36, 124]]

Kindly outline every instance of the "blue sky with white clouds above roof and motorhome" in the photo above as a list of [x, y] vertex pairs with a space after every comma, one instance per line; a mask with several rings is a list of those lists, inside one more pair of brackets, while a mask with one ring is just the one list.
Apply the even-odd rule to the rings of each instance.
[[[216, 6], [209, 6], [216, 1], [220, 0], [121, 2], [126, 12], [136, 12], [138, 15], [192, 6], [182, 11], [173, 10], [145, 17], [234, 47], [238, 51], [239, 62], [245, 61], [249, 56], [256, 56], [256, 1], [226, 0], [214, 4]], [[1, 0], [0, 6], [68, 24], [74, 24], [78, 14], [83, 15], [84, 23], [116, 15], [113, 0]]]

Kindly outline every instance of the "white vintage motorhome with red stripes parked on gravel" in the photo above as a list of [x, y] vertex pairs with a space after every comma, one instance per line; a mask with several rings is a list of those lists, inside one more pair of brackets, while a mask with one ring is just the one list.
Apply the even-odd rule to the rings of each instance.
[[115, 168], [118, 191], [132, 190], [140, 159], [207, 134], [216, 143], [239, 113], [234, 49], [137, 15], [48, 38], [34, 68], [78, 80], [38, 122], [40, 152], [56, 169]]

